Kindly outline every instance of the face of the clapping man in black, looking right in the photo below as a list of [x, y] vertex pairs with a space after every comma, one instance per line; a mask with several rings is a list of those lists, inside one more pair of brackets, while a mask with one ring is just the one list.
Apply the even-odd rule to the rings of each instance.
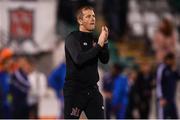
[[95, 14], [93, 10], [83, 10], [83, 16], [79, 19], [79, 24], [84, 28], [84, 31], [90, 32], [95, 29]]

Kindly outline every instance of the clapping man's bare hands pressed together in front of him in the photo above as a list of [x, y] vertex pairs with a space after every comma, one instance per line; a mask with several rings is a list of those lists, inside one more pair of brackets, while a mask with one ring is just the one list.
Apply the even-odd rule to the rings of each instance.
[[102, 30], [101, 30], [101, 34], [99, 36], [99, 39], [98, 39], [98, 44], [103, 47], [105, 42], [107, 41], [108, 39], [108, 28], [106, 26], [102, 26]]

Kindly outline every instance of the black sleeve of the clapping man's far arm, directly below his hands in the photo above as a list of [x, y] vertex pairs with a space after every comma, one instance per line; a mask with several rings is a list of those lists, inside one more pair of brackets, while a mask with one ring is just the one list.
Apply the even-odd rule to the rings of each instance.
[[102, 50], [99, 52], [99, 59], [103, 64], [108, 63], [109, 61], [108, 44], [105, 44]]

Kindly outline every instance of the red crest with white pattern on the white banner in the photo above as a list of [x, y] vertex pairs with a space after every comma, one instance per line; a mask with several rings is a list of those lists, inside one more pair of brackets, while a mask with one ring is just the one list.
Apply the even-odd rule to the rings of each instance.
[[24, 8], [10, 10], [10, 39], [26, 40], [33, 36], [33, 11]]

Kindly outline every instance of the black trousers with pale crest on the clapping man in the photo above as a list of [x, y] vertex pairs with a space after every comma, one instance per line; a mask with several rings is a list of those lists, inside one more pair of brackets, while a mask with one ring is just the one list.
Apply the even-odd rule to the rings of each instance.
[[79, 119], [82, 111], [88, 119], [104, 119], [103, 97], [97, 87], [64, 95], [65, 119]]

